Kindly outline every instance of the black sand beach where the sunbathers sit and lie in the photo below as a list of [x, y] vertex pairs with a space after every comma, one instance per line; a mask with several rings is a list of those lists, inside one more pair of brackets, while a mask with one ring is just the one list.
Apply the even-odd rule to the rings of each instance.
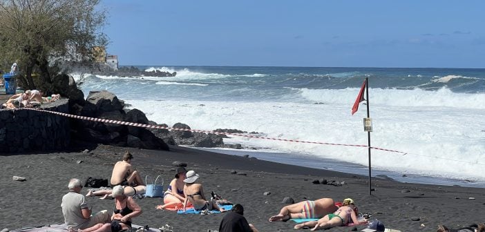
[[[484, 222], [483, 189], [459, 186], [406, 184], [390, 180], [373, 180], [375, 191], [368, 194], [367, 177], [348, 173], [266, 162], [251, 157], [222, 155], [191, 148], [172, 147], [172, 151], [146, 151], [128, 148], [134, 155], [133, 166], [142, 175], [162, 175], [167, 188], [173, 178], [172, 162], [187, 162], [205, 186], [206, 197], [216, 191], [227, 200], [245, 206], [245, 217], [260, 231], [296, 231], [294, 222], [268, 222], [285, 204], [284, 197], [295, 202], [332, 197], [341, 201], [355, 200], [359, 212], [372, 214], [386, 228], [401, 231], [436, 231], [438, 224], [455, 228]], [[70, 178], [85, 181], [87, 177], [109, 179], [113, 164], [121, 160], [126, 148], [97, 146], [88, 153], [39, 153], [1, 155], [0, 229], [62, 224], [61, 197]], [[79, 164], [78, 162], [81, 161]], [[231, 174], [231, 171], [238, 174]], [[242, 174], [242, 175], [240, 175]], [[26, 177], [25, 182], [12, 180], [13, 175]], [[343, 186], [312, 184], [319, 179], [345, 182]], [[87, 193], [87, 188], [82, 193]], [[269, 195], [263, 195], [270, 192]], [[474, 199], [469, 199], [473, 197]], [[88, 197], [93, 211], [113, 210], [113, 200]], [[214, 215], [178, 215], [174, 211], [155, 210], [162, 198], [137, 200], [143, 213], [133, 219], [139, 225], [158, 228], [165, 224], [174, 231], [207, 231], [218, 229], [224, 213]], [[363, 229], [365, 226], [355, 226]], [[354, 227], [337, 227], [329, 231], [352, 231]]]

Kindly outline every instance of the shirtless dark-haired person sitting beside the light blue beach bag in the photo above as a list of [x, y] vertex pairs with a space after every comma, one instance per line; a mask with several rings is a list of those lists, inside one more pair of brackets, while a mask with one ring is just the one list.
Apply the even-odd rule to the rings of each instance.
[[[146, 185], [138, 171], [133, 170], [131, 160], [133, 160], [133, 155], [127, 151], [123, 155], [123, 160], [116, 162], [113, 167], [113, 173], [111, 173], [111, 186], [121, 185], [128, 187], [124, 190], [124, 194], [127, 196], [133, 196], [137, 193], [143, 194], [146, 191]], [[111, 190], [100, 190], [89, 191], [86, 196], [104, 195], [102, 199], [105, 199], [110, 197], [110, 194]]]

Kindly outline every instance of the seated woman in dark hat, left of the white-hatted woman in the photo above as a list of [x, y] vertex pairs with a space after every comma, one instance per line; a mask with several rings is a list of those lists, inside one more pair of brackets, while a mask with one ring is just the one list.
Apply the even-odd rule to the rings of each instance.
[[163, 194], [163, 205], [158, 205], [156, 209], [165, 209], [169, 206], [173, 205], [180, 205], [185, 202], [185, 195], [184, 195], [184, 179], [185, 179], [185, 170], [184, 167], [177, 168], [177, 174], [175, 174], [175, 178], [170, 182], [169, 188]]

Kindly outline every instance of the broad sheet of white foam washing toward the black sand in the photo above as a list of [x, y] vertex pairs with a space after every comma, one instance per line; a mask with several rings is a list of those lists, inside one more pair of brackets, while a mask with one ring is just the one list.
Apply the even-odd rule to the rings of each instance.
[[[137, 100], [128, 103], [144, 111], [149, 119], [169, 125], [182, 122], [200, 130], [237, 128], [281, 139], [367, 144], [362, 124], [362, 117], [365, 117], [363, 106], [352, 116], [348, 104]], [[158, 108], [164, 108], [165, 113], [160, 113]], [[464, 115], [459, 110], [444, 107], [428, 110], [417, 106], [374, 106], [372, 146], [402, 153], [372, 150], [372, 164], [376, 168], [401, 173], [482, 180], [485, 176], [485, 162], [481, 161], [485, 153], [485, 133], [478, 128], [485, 128], [485, 122], [475, 122], [475, 119], [483, 113], [483, 109], [473, 109]], [[301, 144], [247, 137], [232, 137], [225, 141], [292, 152], [302, 158], [368, 163], [365, 146]], [[460, 168], [450, 168], [456, 164]]]

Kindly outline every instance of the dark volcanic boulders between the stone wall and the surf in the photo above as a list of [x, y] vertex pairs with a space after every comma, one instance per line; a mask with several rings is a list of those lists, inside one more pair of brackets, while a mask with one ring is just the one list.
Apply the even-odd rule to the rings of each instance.
[[[112, 119], [138, 124], [158, 125], [168, 128], [167, 124], [157, 124], [149, 121], [146, 115], [133, 108], [124, 108], [124, 101], [118, 99], [108, 91], [91, 91], [83, 104], [74, 104], [71, 109], [76, 115]], [[136, 148], [169, 150], [168, 145], [188, 145], [196, 147], [228, 147], [240, 149], [240, 144], [224, 144], [226, 135], [213, 133], [192, 132], [187, 124], [176, 123], [172, 128], [180, 130], [167, 130], [159, 128], [143, 128], [139, 126], [124, 126], [88, 120], [75, 120], [73, 130], [75, 139], [102, 144], [130, 146]], [[235, 129], [217, 129], [221, 133], [245, 133]], [[168, 144], [168, 145], [167, 145]]]

